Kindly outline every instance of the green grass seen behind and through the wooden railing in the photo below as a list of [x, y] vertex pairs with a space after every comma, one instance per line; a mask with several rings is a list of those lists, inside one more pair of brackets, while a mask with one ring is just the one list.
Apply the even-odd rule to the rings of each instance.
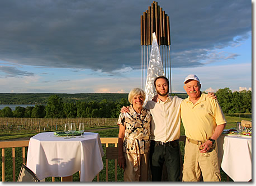
[[[226, 129], [227, 128], [231, 128], [231, 127], [236, 127], [236, 122], [240, 122], [241, 120], [251, 120], [248, 118], [239, 118], [239, 117], [231, 117], [231, 116], [226, 116], [226, 120], [227, 120], [227, 125], [226, 125]], [[114, 127], [115, 125], [111, 125], [112, 127]], [[99, 128], [106, 128], [106, 127], [110, 127], [110, 126], [94, 126], [94, 127], [87, 127], [86, 130], [88, 129], [99, 129]], [[38, 132], [37, 132], [38, 133]], [[107, 129], [107, 130], [101, 130], [101, 131], [97, 131], [97, 133], [99, 133], [100, 137], [118, 137], [118, 128], [112, 128], [112, 129]], [[14, 138], [20, 138], [20, 137], [31, 137], [34, 136], [36, 133], [32, 132], [32, 133], [20, 133], [20, 132], [10, 132], [10, 133], [1, 133], [0, 135], [0, 140], [8, 140], [8, 139], [14, 139]], [[181, 125], [181, 135], [184, 135], [184, 127], [183, 125]], [[182, 155], [184, 155], [184, 145], [183, 142], [180, 142], [180, 146], [181, 146], [181, 153]], [[103, 150], [106, 152], [106, 147], [103, 145]], [[1, 149], [1, 153], [2, 153], [2, 149]], [[27, 154], [27, 148], [26, 148], [26, 154]], [[15, 156], [16, 156], [16, 180], [18, 178], [18, 174], [20, 172], [20, 168], [21, 168], [21, 164], [22, 164], [22, 147], [18, 147], [15, 150]], [[105, 182], [105, 156], [103, 157], [103, 164], [104, 164], [104, 168], [101, 171], [101, 173], [99, 174], [99, 181], [100, 182]], [[109, 181], [114, 181], [115, 180], [115, 173], [114, 173], [114, 161], [113, 160], [109, 160], [109, 173], [108, 173], [108, 179]], [[1, 171], [0, 171], [0, 180], [2, 180], [2, 161], [0, 164], [1, 167]], [[123, 181], [123, 171], [120, 168], [117, 168], [118, 170], [118, 182], [122, 182]], [[221, 179], [222, 182], [226, 182], [226, 174], [224, 173], [224, 171], [221, 170]], [[5, 180], [6, 182], [12, 182], [12, 149], [11, 148], [7, 148], [5, 149]], [[51, 178], [46, 178], [46, 182], [51, 181]], [[59, 182], [60, 178], [55, 178], [55, 182]], [[97, 181], [96, 178], [94, 178], [93, 181]], [[229, 181], [233, 181], [233, 180], [229, 180]], [[73, 175], [73, 182], [79, 182], [79, 175], [78, 173]]]

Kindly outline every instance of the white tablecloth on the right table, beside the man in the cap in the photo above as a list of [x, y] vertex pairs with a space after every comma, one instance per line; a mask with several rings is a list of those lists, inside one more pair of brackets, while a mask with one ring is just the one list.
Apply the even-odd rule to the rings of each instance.
[[219, 164], [235, 182], [252, 179], [252, 137], [221, 135], [217, 140]]

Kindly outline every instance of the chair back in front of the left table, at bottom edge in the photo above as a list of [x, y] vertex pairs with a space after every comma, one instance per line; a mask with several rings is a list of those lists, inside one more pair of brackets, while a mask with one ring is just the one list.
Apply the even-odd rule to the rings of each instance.
[[30, 170], [26, 165], [22, 164], [17, 182], [40, 182], [40, 180], [32, 170]]

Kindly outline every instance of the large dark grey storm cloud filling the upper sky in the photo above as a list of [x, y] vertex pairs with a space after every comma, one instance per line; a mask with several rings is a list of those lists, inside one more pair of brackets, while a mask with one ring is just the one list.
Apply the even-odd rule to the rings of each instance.
[[[140, 69], [140, 15], [152, 2], [2, 0], [0, 59], [107, 72]], [[252, 30], [251, 1], [157, 2], [170, 16], [173, 68], [201, 66], [211, 50], [238, 45]]]

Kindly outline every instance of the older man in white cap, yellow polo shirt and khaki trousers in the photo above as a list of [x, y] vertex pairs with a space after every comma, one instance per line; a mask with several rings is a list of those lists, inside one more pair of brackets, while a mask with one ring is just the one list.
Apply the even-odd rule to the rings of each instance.
[[219, 182], [220, 170], [216, 140], [226, 125], [224, 114], [216, 99], [203, 94], [199, 78], [188, 75], [184, 80], [188, 98], [181, 103], [181, 118], [187, 136], [183, 182]]

